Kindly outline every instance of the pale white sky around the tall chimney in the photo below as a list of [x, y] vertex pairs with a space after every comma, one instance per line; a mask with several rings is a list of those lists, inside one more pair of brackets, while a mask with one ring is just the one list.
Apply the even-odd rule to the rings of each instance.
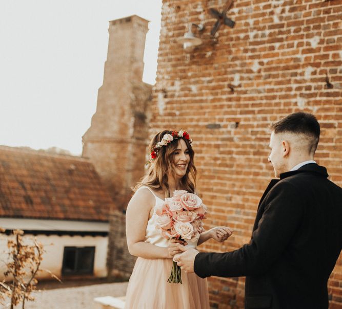
[[82, 152], [108, 48], [108, 21], [150, 20], [143, 80], [154, 84], [162, 0], [1, 0], [0, 145]]

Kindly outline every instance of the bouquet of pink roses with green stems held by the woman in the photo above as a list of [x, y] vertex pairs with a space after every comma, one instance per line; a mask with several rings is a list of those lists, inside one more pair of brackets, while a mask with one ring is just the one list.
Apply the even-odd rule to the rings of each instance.
[[[176, 238], [191, 242], [204, 232], [202, 220], [205, 219], [206, 213], [207, 207], [196, 194], [176, 190], [172, 197], [166, 198], [156, 209], [157, 226], [162, 236], [167, 239]], [[168, 282], [182, 283], [180, 275], [180, 267], [173, 261]]]

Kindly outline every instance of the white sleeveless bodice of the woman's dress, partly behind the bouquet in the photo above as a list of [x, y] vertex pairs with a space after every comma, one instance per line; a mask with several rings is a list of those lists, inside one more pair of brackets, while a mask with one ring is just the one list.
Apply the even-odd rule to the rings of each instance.
[[[158, 246], [158, 247], [167, 248], [168, 247], [168, 239], [164, 238], [162, 236], [162, 233], [160, 233], [160, 229], [158, 229], [158, 227], [157, 227], [158, 216], [155, 213], [157, 206], [162, 204], [164, 202], [164, 200], [162, 200], [162, 198], [156, 196], [154, 194], [154, 192], [149, 187], [143, 186], [143, 187], [140, 187], [139, 189], [142, 189], [142, 188], [146, 188], [146, 189], [150, 190], [151, 193], [155, 197], [153, 214], [152, 214], [151, 218], [148, 220], [147, 226], [146, 226], [145, 242], [149, 242], [150, 244]], [[198, 237], [196, 237], [194, 239], [187, 240], [187, 242], [188, 242], [187, 246], [191, 247], [191, 248], [196, 248], [198, 238], [199, 238], [199, 235], [198, 235]]]

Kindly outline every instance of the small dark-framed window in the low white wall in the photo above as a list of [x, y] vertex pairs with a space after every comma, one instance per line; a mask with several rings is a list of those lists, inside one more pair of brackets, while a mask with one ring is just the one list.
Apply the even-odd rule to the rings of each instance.
[[62, 274], [92, 274], [94, 255], [95, 247], [64, 247]]

